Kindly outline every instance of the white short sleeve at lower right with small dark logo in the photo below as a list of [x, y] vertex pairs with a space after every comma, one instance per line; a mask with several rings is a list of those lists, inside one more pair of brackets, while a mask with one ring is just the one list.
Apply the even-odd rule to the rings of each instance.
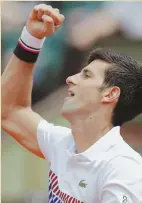
[[100, 203], [142, 203], [142, 165], [116, 158], [102, 176]]

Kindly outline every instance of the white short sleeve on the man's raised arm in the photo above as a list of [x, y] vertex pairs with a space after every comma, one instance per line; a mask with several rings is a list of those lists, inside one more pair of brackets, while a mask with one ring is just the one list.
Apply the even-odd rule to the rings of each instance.
[[[56, 148], [67, 148], [71, 139], [71, 129], [55, 126], [46, 120], [41, 120], [37, 128], [37, 140], [45, 159], [51, 162]], [[71, 144], [71, 143], [70, 143]]]

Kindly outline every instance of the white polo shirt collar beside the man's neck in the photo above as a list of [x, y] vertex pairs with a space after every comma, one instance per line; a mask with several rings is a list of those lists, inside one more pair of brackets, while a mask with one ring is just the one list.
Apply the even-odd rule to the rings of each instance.
[[[89, 160], [94, 160], [95, 157], [98, 157], [98, 154], [108, 151], [109, 148], [118, 143], [120, 140], [123, 140], [120, 135], [120, 126], [113, 127], [86, 151], [79, 154], [74, 154], [73, 156], [83, 156]], [[71, 146], [69, 151], [75, 152], [75, 143]], [[97, 156], [94, 156], [95, 154]]]

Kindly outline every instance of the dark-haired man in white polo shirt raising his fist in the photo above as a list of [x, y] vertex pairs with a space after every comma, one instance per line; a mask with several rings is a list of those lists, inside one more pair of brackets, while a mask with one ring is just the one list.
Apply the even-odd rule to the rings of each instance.
[[44, 37], [63, 20], [44, 4], [30, 13], [2, 76], [2, 128], [49, 161], [49, 202], [141, 203], [142, 158], [120, 135], [120, 126], [142, 110], [138, 62], [107, 49], [92, 52], [87, 66], [67, 79], [61, 113], [71, 130], [31, 109], [34, 63]]

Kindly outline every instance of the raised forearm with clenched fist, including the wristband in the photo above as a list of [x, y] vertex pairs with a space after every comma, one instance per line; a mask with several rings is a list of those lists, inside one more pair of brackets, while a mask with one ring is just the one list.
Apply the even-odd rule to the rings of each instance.
[[[37, 5], [31, 11], [18, 40], [14, 55], [2, 75], [2, 117], [14, 107], [30, 107], [33, 69], [45, 37], [53, 34], [64, 16], [51, 6]], [[42, 14], [42, 15], [41, 15]], [[55, 26], [55, 24], [57, 26]]]

